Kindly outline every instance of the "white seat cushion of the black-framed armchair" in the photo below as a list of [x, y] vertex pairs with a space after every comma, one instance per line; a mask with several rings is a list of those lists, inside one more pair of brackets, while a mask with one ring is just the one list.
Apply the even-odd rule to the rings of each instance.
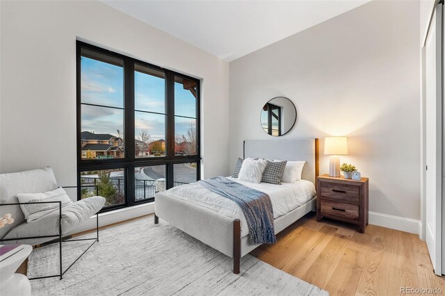
[[[88, 197], [79, 200], [62, 208], [62, 217], [60, 225], [62, 234], [66, 234], [82, 222], [88, 220], [92, 215], [97, 213], [105, 204], [104, 197]], [[15, 227], [6, 234], [4, 239], [25, 238], [30, 236], [57, 236], [58, 235], [58, 215], [59, 211], [54, 211], [33, 222], [24, 222]], [[36, 238], [28, 240], [16, 240], [8, 243], [26, 243], [29, 245], [38, 245], [46, 242], [48, 238]]]

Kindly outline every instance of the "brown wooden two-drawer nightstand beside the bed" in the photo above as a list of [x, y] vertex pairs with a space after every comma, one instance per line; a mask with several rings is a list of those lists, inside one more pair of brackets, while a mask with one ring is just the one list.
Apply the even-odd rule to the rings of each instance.
[[368, 178], [360, 181], [323, 174], [317, 178], [317, 222], [328, 217], [356, 224], [364, 233], [368, 225]]

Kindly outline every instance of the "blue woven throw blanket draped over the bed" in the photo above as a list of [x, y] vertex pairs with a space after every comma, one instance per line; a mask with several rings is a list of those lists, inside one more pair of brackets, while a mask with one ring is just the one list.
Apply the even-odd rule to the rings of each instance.
[[230, 181], [223, 176], [198, 181], [202, 186], [241, 207], [248, 222], [249, 245], [277, 242], [273, 227], [273, 208], [270, 197], [259, 190]]

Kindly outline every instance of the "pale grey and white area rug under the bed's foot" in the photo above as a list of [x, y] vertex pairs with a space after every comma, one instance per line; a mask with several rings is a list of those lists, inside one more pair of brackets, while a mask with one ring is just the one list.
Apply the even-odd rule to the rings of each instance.
[[[64, 270], [86, 247], [88, 241], [63, 243]], [[99, 242], [63, 280], [32, 280], [31, 288], [32, 295], [329, 295], [250, 255], [241, 259], [240, 274], [232, 265], [232, 258], [147, 218], [100, 231]], [[57, 268], [58, 244], [29, 256], [29, 277], [56, 274]]]

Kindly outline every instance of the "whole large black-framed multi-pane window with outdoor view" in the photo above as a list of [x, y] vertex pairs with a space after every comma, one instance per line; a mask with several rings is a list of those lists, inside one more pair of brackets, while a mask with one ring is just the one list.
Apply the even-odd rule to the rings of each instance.
[[199, 110], [199, 80], [78, 41], [78, 198], [108, 211], [200, 179]]

